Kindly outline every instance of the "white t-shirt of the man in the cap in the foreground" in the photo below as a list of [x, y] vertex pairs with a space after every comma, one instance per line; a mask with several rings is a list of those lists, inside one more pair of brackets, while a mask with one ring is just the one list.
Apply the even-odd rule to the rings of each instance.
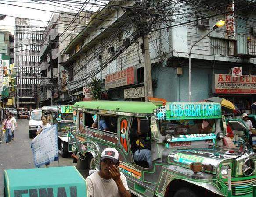
[[[125, 176], [122, 172], [120, 174], [123, 186], [129, 190]], [[102, 179], [99, 172], [94, 172], [88, 176], [86, 182], [89, 197], [90, 195], [92, 197], [121, 197], [115, 181], [112, 178], [109, 180]]]

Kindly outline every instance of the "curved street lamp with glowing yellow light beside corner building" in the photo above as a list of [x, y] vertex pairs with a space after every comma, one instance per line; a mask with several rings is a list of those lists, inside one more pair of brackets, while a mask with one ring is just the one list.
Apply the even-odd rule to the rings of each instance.
[[209, 31], [206, 35], [204, 35], [202, 38], [200, 38], [197, 42], [195, 42], [195, 44], [193, 44], [190, 48], [189, 51], [189, 60], [188, 60], [188, 98], [189, 98], [189, 102], [191, 102], [191, 50], [193, 49], [193, 47], [200, 42], [202, 39], [204, 39], [207, 35], [209, 35], [211, 32], [213, 32], [216, 28], [222, 27], [225, 25], [225, 21], [218, 21], [216, 22], [216, 24], [213, 26], [213, 29], [211, 31]]

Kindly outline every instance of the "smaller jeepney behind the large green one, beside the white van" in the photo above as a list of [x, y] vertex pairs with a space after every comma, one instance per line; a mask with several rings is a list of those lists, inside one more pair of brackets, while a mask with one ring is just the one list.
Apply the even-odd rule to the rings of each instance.
[[[74, 137], [69, 134], [70, 127], [73, 126], [73, 109], [72, 106], [44, 106], [42, 113], [47, 116], [47, 122], [51, 125], [58, 125], [58, 144], [59, 153], [62, 157], [66, 158], [70, 155], [71, 142]], [[70, 146], [70, 147], [69, 147]]]

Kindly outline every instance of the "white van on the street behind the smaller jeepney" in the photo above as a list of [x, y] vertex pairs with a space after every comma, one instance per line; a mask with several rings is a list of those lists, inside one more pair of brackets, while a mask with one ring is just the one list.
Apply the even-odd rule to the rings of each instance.
[[32, 109], [29, 118], [29, 138], [36, 136], [37, 127], [42, 124], [42, 110]]

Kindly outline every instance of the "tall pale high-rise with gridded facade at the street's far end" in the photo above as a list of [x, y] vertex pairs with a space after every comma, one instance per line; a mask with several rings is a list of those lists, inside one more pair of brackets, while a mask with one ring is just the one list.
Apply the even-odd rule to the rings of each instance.
[[15, 18], [14, 63], [17, 67], [17, 107], [36, 108], [36, 77], [39, 74], [40, 45], [45, 27]]

